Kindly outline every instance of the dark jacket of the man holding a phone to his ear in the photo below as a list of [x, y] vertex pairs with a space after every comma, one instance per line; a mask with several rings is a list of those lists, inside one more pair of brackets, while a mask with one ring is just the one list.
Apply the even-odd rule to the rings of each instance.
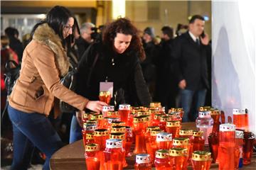
[[178, 82], [186, 80], [186, 89], [197, 90], [209, 88], [207, 58], [210, 45], [197, 45], [188, 32], [174, 40], [174, 50], [171, 54], [176, 63], [174, 72]]

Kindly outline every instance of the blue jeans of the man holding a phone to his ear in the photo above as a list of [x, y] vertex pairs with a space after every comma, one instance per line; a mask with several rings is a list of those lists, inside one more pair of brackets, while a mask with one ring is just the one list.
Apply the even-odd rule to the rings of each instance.
[[[192, 91], [188, 89], [181, 90], [181, 107], [183, 108], [183, 122], [195, 121], [198, 116], [198, 108], [204, 106], [206, 101], [206, 89]], [[191, 114], [188, 118], [188, 114]]]

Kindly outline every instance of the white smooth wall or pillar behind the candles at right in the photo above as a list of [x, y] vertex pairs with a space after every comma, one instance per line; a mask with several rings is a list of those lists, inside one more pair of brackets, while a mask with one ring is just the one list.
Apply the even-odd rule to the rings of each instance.
[[256, 1], [212, 1], [213, 107], [249, 110], [256, 132]]

